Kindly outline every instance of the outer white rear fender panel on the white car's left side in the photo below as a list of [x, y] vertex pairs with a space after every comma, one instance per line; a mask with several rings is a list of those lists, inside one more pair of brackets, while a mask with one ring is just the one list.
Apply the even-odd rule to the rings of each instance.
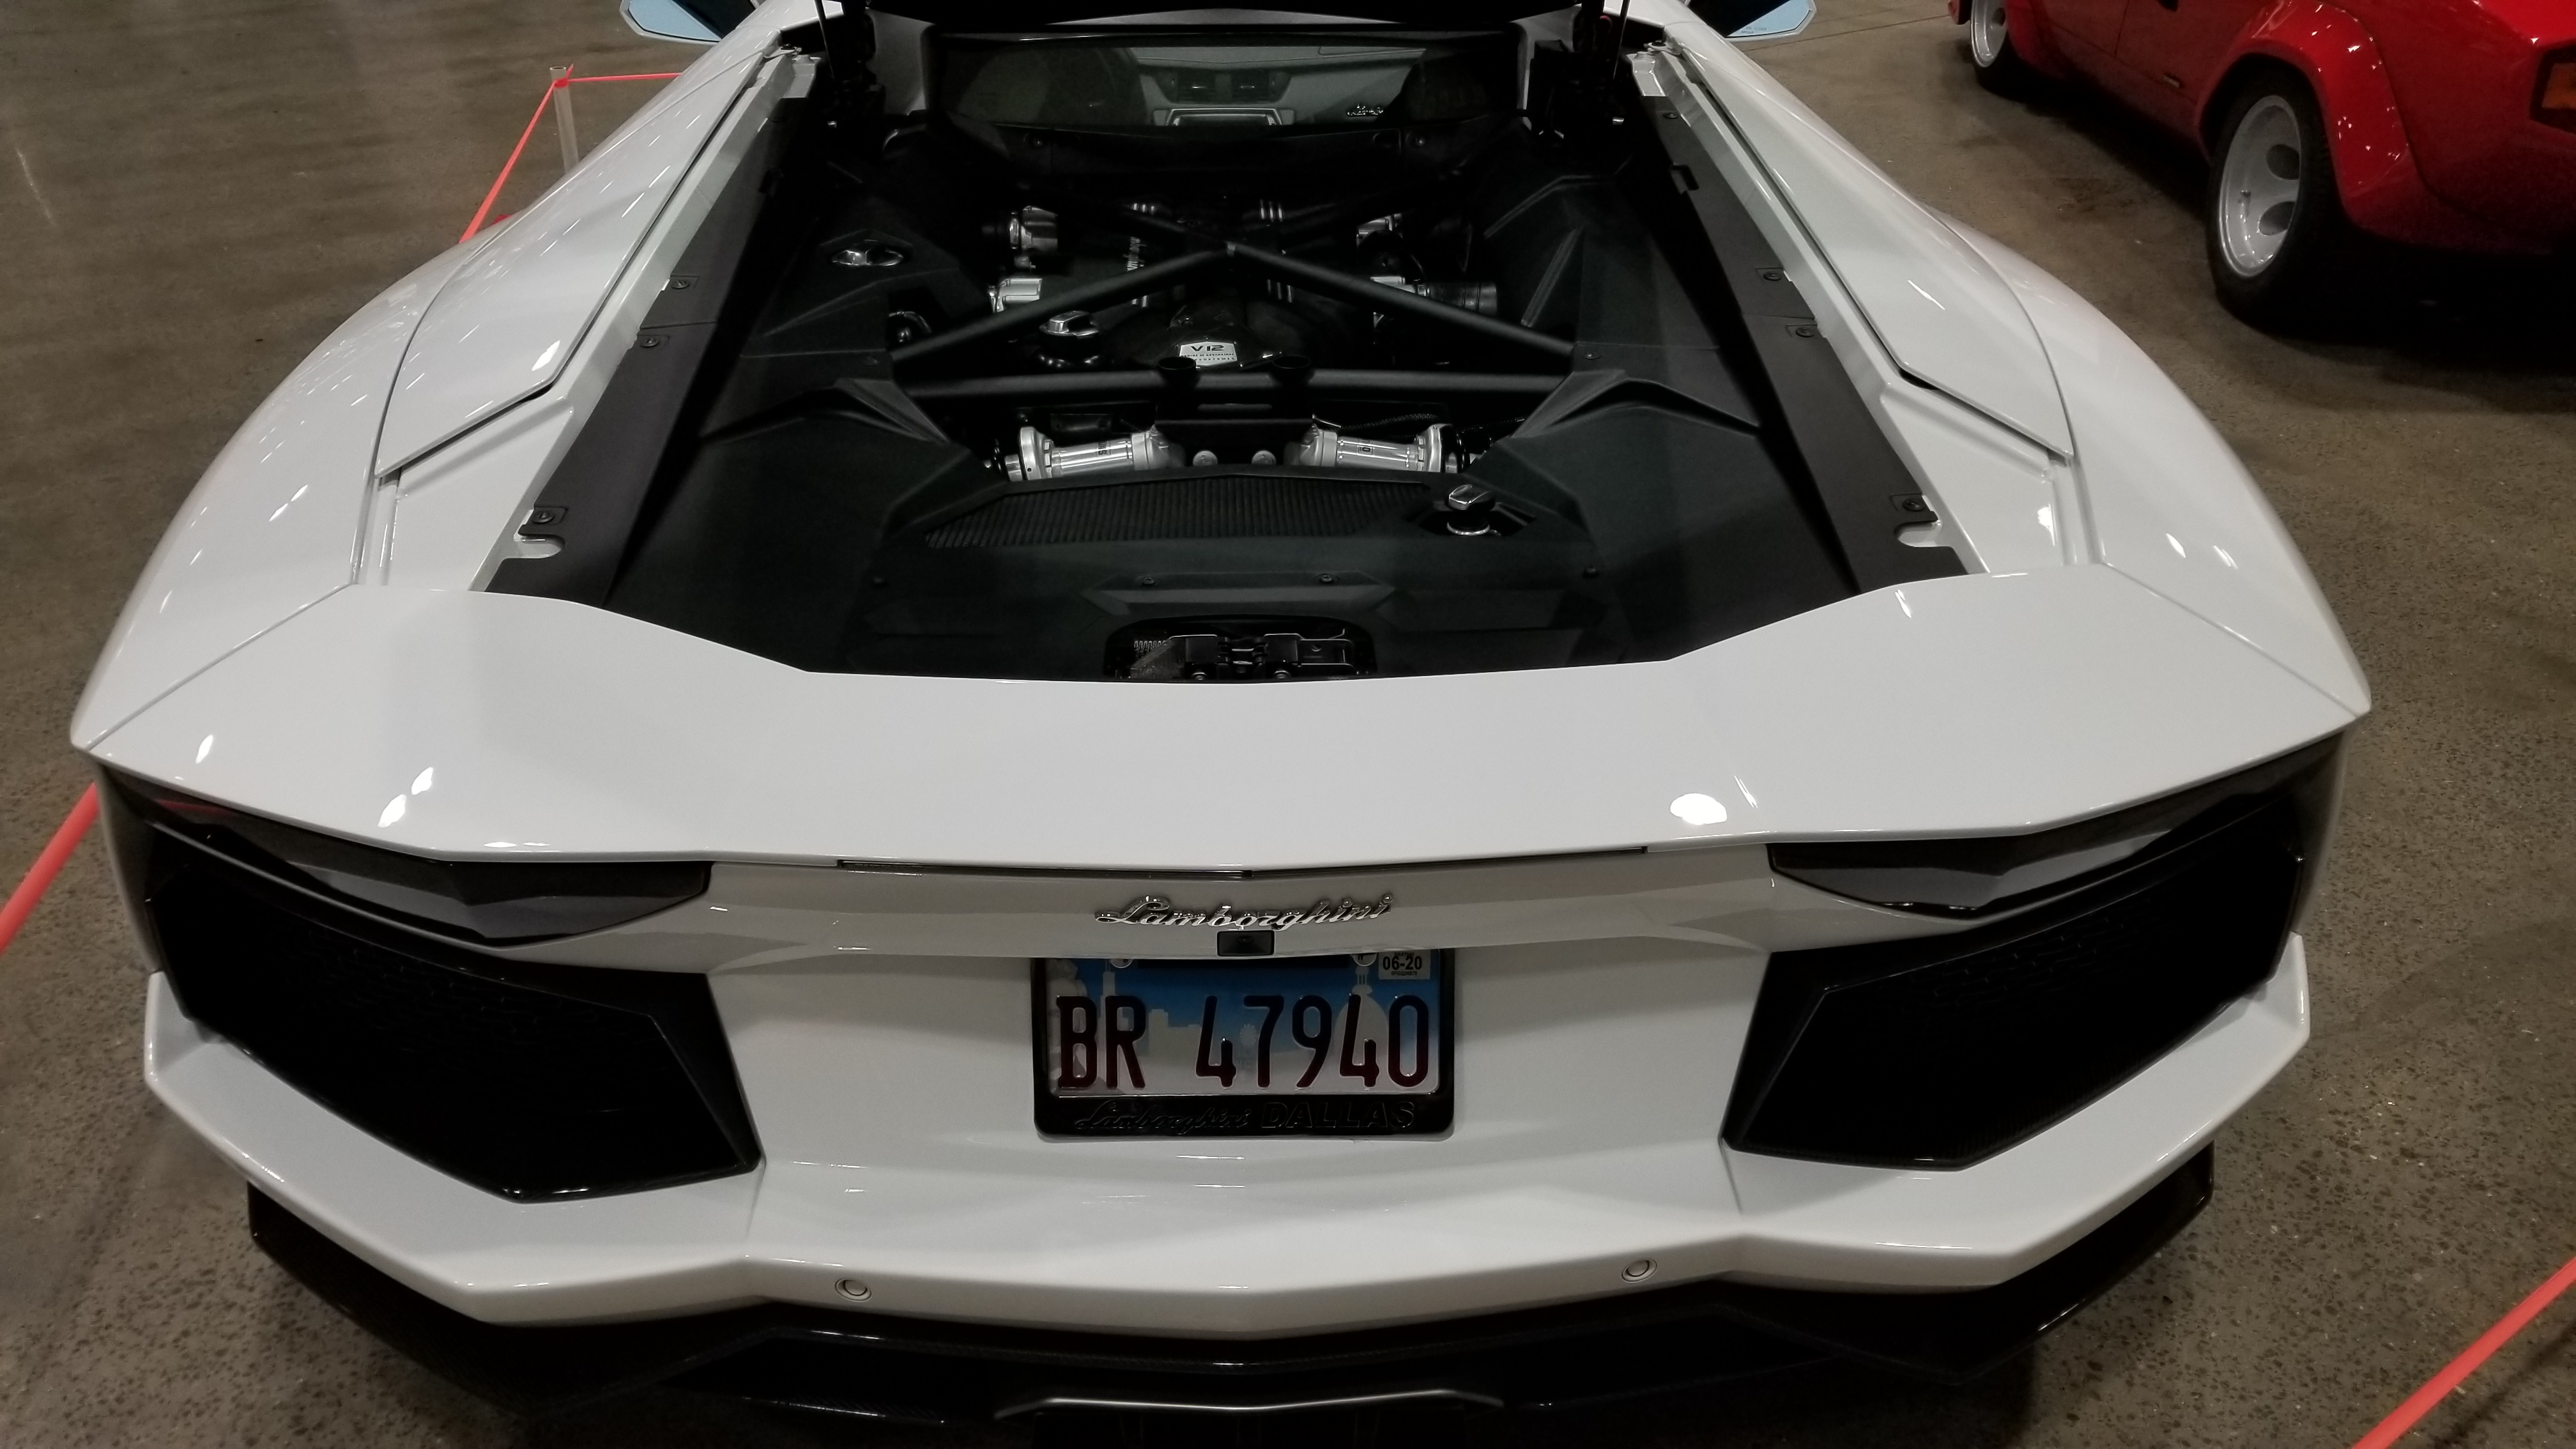
[[428, 260], [361, 307], [224, 443], [108, 632], [72, 745], [348, 585], [394, 366], [471, 250]]

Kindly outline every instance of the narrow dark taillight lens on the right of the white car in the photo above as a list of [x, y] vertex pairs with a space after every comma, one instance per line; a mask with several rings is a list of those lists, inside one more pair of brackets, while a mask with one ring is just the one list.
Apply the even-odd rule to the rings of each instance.
[[2038, 830], [1960, 841], [1801, 841], [1770, 848], [1772, 871], [1870, 905], [1976, 918], [2017, 910], [2099, 879], [2233, 817], [2249, 797], [2290, 794], [2306, 859], [2324, 848], [2342, 737], [2146, 804]]

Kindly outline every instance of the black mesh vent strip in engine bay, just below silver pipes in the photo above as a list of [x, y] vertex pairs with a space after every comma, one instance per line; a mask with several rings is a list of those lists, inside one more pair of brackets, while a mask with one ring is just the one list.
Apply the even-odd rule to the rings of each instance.
[[1131, 539], [1329, 539], [1417, 503], [1412, 482], [1218, 474], [1007, 492], [930, 531], [933, 549]]

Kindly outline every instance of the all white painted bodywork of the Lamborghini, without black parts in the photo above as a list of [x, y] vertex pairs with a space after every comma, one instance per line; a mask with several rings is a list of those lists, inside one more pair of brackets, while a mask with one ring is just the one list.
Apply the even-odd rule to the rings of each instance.
[[[770, 49], [811, 5], [773, 0], [296, 371], [162, 541], [72, 730], [121, 771], [397, 851], [716, 861], [701, 900], [502, 954], [708, 972], [765, 1163], [513, 1204], [204, 1036], [162, 977], [155, 1091], [296, 1214], [495, 1323], [848, 1307], [835, 1284], [863, 1279], [886, 1312], [1278, 1336], [1623, 1292], [1636, 1258], [1651, 1287], [1960, 1289], [2105, 1222], [2300, 1047], [2298, 938], [2259, 995], [1973, 1168], [1739, 1155], [1718, 1124], [1765, 957], [1958, 928], [1783, 882], [1762, 843], [2081, 820], [2336, 735], [2367, 688], [2241, 464], [2133, 343], [1672, 0], [1636, 15], [1680, 46], [1641, 75], [1703, 183], [1811, 302], [1937, 505], [1927, 541], [1981, 572], [1659, 663], [1288, 686], [801, 673], [479, 593], [799, 85]], [[896, 98], [907, 54], [881, 46]], [[1677, 817], [1692, 794], [1721, 817]], [[1458, 951], [1455, 1127], [1041, 1140], [1028, 962], [1133, 954], [1095, 915], [1146, 890], [1399, 895], [1283, 949]]]

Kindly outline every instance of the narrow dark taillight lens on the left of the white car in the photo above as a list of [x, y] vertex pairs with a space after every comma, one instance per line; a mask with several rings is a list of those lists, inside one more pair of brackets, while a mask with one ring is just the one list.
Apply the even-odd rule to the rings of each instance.
[[106, 773], [108, 807], [286, 884], [459, 941], [505, 946], [605, 931], [706, 895], [706, 861], [433, 861], [170, 786]]

